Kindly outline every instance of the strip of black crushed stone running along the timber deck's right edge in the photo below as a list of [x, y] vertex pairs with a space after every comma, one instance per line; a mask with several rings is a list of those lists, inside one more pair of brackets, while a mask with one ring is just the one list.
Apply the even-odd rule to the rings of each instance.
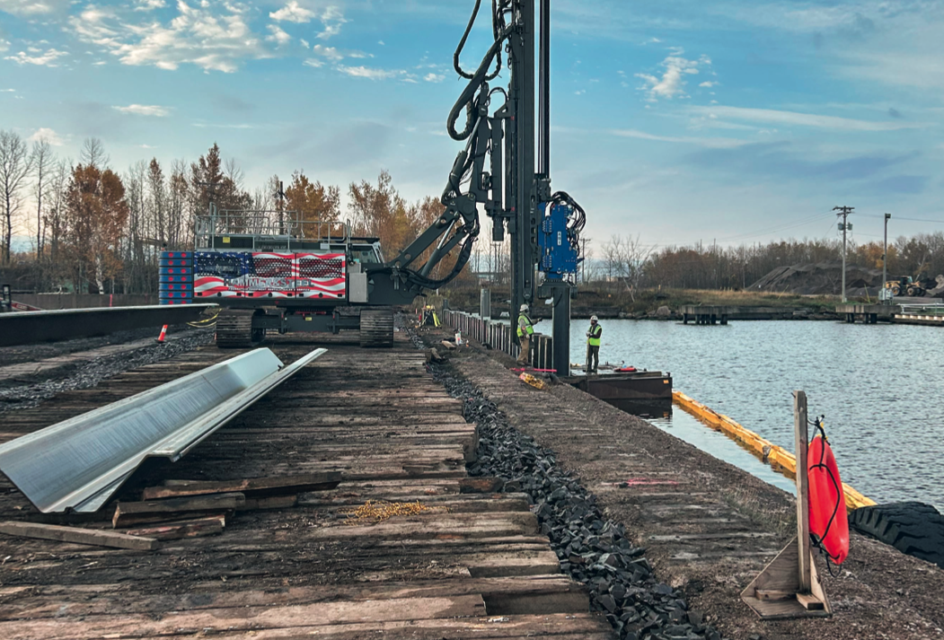
[[442, 365], [428, 367], [451, 396], [463, 400], [465, 419], [479, 427], [479, 457], [467, 466], [469, 475], [496, 476], [505, 480], [505, 492], [528, 495], [562, 571], [588, 587], [591, 609], [606, 615], [621, 640], [721, 640], [680, 591], [658, 581], [645, 547], [632, 546], [625, 527], [602, 514], [597, 498], [557, 466], [552, 450], [514, 429], [470, 382]]

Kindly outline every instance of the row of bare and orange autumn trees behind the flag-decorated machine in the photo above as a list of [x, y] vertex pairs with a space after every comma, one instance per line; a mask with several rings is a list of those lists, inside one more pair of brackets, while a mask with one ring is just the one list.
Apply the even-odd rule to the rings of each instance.
[[[86, 140], [73, 161], [57, 158], [47, 141], [30, 145], [0, 131], [0, 276], [19, 290], [153, 294], [160, 251], [192, 249], [196, 221], [211, 202], [235, 220], [239, 228], [230, 230], [298, 233], [293, 220], [349, 221], [354, 235], [378, 238], [387, 258], [444, 211], [431, 196], [407, 201], [386, 171], [376, 183], [348, 185], [346, 216], [341, 188], [304, 170], [255, 189], [244, 182], [216, 143], [189, 164], [152, 158], [119, 173], [97, 139]], [[27, 228], [35, 230], [31, 246], [20, 242], [17, 250], [13, 239]]]

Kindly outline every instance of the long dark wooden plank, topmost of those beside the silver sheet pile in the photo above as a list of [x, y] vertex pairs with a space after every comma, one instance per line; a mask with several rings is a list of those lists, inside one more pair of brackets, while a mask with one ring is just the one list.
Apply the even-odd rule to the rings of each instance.
[[277, 478], [247, 478], [208, 482], [201, 480], [165, 480], [164, 486], [147, 487], [142, 492], [143, 500], [165, 497], [200, 496], [206, 494], [241, 493], [245, 497], [268, 497], [283, 494], [299, 494], [311, 491], [334, 489], [341, 483], [341, 473], [326, 471], [301, 476]]

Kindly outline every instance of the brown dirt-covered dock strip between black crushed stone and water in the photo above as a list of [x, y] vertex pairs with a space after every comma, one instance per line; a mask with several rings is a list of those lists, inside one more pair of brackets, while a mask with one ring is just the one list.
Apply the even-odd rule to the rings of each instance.
[[792, 496], [567, 385], [541, 391], [515, 380], [493, 356], [469, 351], [450, 365], [552, 448], [647, 548], [658, 579], [725, 637], [944, 638], [944, 571], [856, 533], [835, 578], [817, 561], [832, 619], [761, 622], [740, 592], [796, 534]]

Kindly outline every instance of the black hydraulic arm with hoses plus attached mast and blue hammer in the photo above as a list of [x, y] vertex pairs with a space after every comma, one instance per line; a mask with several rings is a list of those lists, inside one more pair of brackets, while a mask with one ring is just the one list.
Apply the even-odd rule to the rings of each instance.
[[[492, 219], [494, 242], [503, 242], [506, 232], [510, 236], [513, 317], [522, 304], [531, 304], [537, 296], [553, 300], [555, 368], [568, 374], [570, 291], [582, 260], [579, 237], [584, 213], [569, 195], [550, 190], [550, 1], [537, 2], [539, 21], [535, 0], [492, 0], [494, 40], [479, 66], [466, 71], [460, 55], [479, 16], [482, 2], [476, 0], [453, 56], [456, 73], [468, 83], [449, 111], [447, 132], [465, 145], [443, 190], [445, 211], [396, 258], [369, 269], [368, 274], [375, 281], [389, 275], [389, 282], [402, 295], [447, 284], [471, 257], [482, 210]], [[540, 83], [535, 100], [538, 23]], [[493, 87], [490, 83], [506, 68], [510, 71], [507, 88]], [[447, 275], [430, 278], [432, 269], [457, 246], [458, 256]], [[535, 269], [544, 276], [541, 289]]]

